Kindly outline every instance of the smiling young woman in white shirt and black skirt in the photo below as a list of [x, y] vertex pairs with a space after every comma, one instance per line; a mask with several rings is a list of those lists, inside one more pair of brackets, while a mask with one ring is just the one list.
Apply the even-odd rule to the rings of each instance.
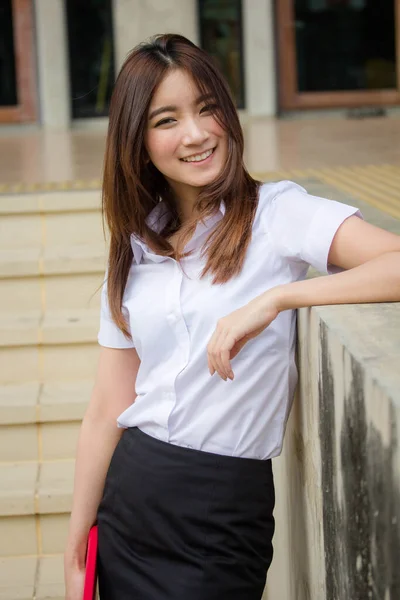
[[[260, 600], [295, 309], [400, 299], [399, 237], [295, 183], [255, 181], [242, 157], [229, 90], [202, 50], [162, 35], [132, 51], [110, 108], [102, 349], [67, 600], [81, 599], [96, 520], [101, 600]], [[309, 265], [332, 276], [304, 281]]]

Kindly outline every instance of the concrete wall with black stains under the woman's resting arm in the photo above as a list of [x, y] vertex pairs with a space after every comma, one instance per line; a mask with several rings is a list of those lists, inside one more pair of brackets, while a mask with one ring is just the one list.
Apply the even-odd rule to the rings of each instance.
[[400, 598], [400, 304], [298, 311], [268, 600]]

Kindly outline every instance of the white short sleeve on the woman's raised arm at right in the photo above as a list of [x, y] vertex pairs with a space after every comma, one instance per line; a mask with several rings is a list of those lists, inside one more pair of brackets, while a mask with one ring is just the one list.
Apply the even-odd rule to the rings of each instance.
[[340, 267], [328, 264], [329, 250], [340, 225], [348, 217], [363, 218], [355, 206], [312, 196], [291, 181], [269, 190], [267, 227], [278, 252], [294, 261], [303, 261], [321, 273], [334, 274]]

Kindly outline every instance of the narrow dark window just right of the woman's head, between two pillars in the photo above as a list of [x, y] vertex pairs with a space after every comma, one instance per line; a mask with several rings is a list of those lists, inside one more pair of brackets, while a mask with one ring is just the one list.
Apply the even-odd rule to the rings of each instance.
[[241, 0], [199, 0], [201, 47], [224, 74], [237, 108], [245, 107]]

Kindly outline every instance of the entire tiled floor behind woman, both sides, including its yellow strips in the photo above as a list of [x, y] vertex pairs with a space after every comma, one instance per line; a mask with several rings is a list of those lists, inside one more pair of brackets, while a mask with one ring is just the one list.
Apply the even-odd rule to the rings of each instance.
[[[400, 219], [400, 118], [253, 118], [243, 129], [246, 165], [260, 179], [312, 178]], [[0, 194], [99, 189], [105, 137], [104, 122], [53, 132], [0, 127]]]

